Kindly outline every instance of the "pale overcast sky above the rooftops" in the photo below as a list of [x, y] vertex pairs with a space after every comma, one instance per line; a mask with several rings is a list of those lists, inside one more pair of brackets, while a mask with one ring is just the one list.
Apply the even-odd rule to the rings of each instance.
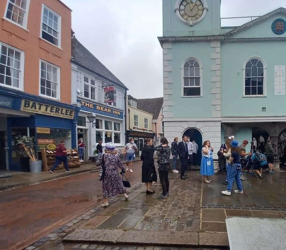
[[[162, 0], [62, 0], [73, 12], [77, 39], [135, 98], [163, 96]], [[221, 17], [261, 16], [286, 0], [222, 0]], [[223, 20], [222, 26], [248, 19]]]

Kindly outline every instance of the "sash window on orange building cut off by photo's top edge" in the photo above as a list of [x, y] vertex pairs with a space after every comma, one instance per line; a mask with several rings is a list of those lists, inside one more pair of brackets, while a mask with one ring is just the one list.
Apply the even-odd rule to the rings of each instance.
[[30, 0], [8, 0], [5, 19], [27, 29]]

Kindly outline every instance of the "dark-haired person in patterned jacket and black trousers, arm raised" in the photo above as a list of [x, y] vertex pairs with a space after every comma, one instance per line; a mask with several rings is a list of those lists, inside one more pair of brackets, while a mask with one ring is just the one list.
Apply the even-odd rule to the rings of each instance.
[[160, 152], [160, 165], [159, 165], [159, 178], [162, 186], [162, 194], [158, 199], [166, 199], [169, 195], [169, 170], [170, 170], [170, 155], [171, 148], [168, 146], [168, 140], [163, 137], [161, 139], [161, 145], [155, 148]]

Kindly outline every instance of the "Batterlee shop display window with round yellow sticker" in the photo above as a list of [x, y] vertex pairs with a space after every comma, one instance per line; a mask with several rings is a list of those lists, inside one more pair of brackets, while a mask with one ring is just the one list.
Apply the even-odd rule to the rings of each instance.
[[65, 140], [65, 147], [71, 149], [71, 130], [50, 128], [49, 133], [37, 133], [37, 150], [41, 150], [41, 148], [48, 149], [52, 147], [51, 145], [56, 146], [60, 143], [60, 140]]

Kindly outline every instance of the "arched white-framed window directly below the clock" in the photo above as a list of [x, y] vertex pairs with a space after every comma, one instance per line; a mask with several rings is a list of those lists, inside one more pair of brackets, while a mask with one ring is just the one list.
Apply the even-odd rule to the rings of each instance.
[[183, 71], [183, 96], [201, 96], [201, 66], [198, 60], [189, 58]]

